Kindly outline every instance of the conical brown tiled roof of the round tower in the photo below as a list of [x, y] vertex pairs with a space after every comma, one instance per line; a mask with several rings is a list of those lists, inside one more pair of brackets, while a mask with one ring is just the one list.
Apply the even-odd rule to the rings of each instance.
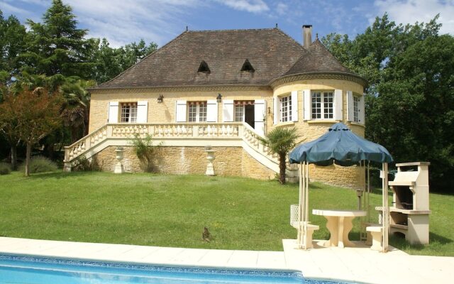
[[285, 75], [302, 74], [309, 72], [342, 72], [354, 74], [339, 62], [316, 38], [307, 52], [290, 68]]

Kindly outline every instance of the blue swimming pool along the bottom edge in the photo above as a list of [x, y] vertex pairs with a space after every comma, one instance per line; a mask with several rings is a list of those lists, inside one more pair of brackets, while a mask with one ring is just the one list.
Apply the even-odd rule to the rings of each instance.
[[223, 284], [337, 283], [304, 280], [299, 271], [155, 266], [0, 254], [0, 283], [27, 284]]

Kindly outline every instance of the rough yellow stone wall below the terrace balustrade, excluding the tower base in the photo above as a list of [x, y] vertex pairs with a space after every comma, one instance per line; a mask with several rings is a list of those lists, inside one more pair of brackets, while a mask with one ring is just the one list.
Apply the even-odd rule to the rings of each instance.
[[[132, 146], [124, 148], [123, 167], [128, 173], [143, 172]], [[113, 172], [116, 161], [116, 147], [110, 146], [94, 155], [101, 170]], [[216, 175], [243, 176], [267, 180], [275, 178], [275, 173], [252, 158], [241, 147], [213, 147], [216, 159], [213, 162]], [[154, 160], [155, 172], [168, 174], [204, 175], [206, 171], [206, 153], [204, 147], [165, 147], [157, 151]]]

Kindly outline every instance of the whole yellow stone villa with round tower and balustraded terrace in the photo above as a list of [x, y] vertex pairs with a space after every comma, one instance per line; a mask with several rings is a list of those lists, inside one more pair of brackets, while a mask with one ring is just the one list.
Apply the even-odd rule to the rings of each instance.
[[[131, 138], [148, 133], [162, 143], [160, 173], [205, 173], [210, 146], [216, 175], [269, 179], [278, 160], [259, 137], [275, 127], [296, 127], [303, 142], [341, 121], [364, 136], [366, 80], [311, 33], [303, 26], [301, 44], [279, 28], [184, 31], [90, 89], [89, 134], [65, 148], [65, 169], [84, 155], [112, 171], [122, 146], [125, 170], [141, 171]], [[359, 187], [363, 178], [355, 166], [311, 168], [311, 179], [333, 185]]]

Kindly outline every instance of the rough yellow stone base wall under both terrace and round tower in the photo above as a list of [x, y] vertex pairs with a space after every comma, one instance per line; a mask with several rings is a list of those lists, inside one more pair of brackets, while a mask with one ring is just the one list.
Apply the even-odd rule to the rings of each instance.
[[[128, 173], [143, 172], [132, 146], [124, 148], [123, 166]], [[101, 170], [113, 172], [116, 165], [116, 147], [110, 146], [97, 153], [94, 158]], [[276, 173], [251, 157], [241, 147], [214, 147], [216, 159], [213, 162], [216, 175], [243, 176], [258, 180], [270, 180]], [[155, 172], [177, 175], [204, 175], [206, 171], [206, 153], [204, 147], [161, 147], [154, 161]], [[341, 167], [330, 165], [309, 168], [311, 181], [324, 182], [329, 185], [360, 188], [364, 182], [364, 172], [360, 167]]]

